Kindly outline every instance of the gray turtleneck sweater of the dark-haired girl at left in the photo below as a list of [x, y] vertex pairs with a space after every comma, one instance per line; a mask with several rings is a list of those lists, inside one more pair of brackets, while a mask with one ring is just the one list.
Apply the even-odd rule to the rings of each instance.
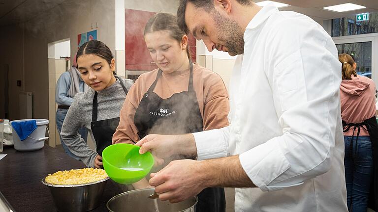
[[[123, 79], [127, 90], [130, 89], [133, 81]], [[91, 130], [92, 103], [95, 90], [90, 88], [85, 93], [77, 93], [72, 105], [69, 107], [64, 118], [61, 136], [63, 142], [69, 150], [80, 158], [87, 167], [94, 167], [97, 152], [88, 147], [78, 130], [87, 128], [95, 143], [95, 138]], [[120, 117], [120, 111], [124, 104], [126, 94], [119, 79], [110, 87], [97, 92], [97, 121]]]

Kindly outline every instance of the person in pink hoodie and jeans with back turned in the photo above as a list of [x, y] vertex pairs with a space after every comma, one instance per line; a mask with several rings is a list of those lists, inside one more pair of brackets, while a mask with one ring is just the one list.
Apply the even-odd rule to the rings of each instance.
[[372, 79], [357, 75], [356, 63], [346, 54], [339, 54], [342, 65], [340, 86], [341, 116], [345, 140], [345, 177], [349, 212], [366, 212], [374, 173], [370, 125], [376, 115], [376, 85]]

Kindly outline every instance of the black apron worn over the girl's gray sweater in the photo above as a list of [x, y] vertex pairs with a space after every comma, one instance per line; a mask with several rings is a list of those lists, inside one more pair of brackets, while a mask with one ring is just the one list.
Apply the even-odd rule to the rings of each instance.
[[[120, 81], [122, 88], [127, 95], [127, 89], [122, 82], [122, 79], [120, 79], [118, 76], [115, 77]], [[112, 144], [113, 134], [116, 132], [119, 123], [120, 117], [97, 121], [97, 92], [95, 91], [92, 105], [91, 129], [93, 136], [95, 137], [96, 152], [98, 155], [102, 156], [102, 151], [104, 151], [107, 146]]]

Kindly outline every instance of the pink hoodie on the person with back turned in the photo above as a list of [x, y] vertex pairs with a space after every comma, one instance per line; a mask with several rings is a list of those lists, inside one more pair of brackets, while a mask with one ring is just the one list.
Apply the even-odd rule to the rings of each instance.
[[[361, 123], [376, 114], [376, 84], [372, 79], [359, 76], [343, 79], [340, 85], [341, 118], [347, 123]], [[344, 135], [352, 135], [353, 127]], [[357, 135], [357, 130], [354, 132]], [[360, 135], [369, 135], [361, 128]]]

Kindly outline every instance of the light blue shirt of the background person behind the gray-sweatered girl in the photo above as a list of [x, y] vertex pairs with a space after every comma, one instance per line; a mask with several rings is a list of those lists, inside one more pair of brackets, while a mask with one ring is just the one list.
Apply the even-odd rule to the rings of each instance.
[[[55, 88], [55, 102], [61, 106], [70, 106], [73, 103], [73, 98], [68, 96], [69, 86], [71, 85], [71, 76], [69, 72], [64, 72], [57, 81]], [[80, 78], [80, 91], [84, 92], [84, 81]]]

